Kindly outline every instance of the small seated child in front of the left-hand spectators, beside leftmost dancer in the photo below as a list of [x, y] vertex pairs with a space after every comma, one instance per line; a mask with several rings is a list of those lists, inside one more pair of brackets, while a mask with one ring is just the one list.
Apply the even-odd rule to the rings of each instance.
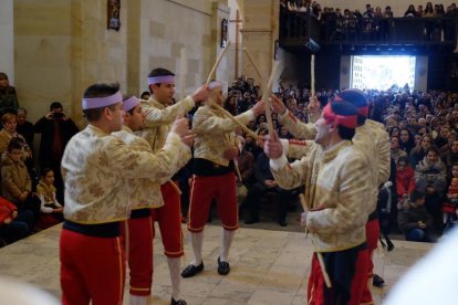
[[37, 186], [37, 196], [40, 199], [40, 215], [35, 227], [48, 229], [63, 220], [62, 206], [55, 197], [54, 171], [51, 168], [43, 169]]

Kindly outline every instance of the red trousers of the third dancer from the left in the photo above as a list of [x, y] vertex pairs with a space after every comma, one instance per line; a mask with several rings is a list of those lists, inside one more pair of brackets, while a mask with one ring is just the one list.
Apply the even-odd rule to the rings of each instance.
[[154, 222], [157, 220], [160, 235], [163, 236], [165, 255], [167, 257], [181, 257], [185, 251], [183, 249], [181, 202], [179, 193], [171, 182], [162, 185], [160, 192], [164, 198], [164, 206], [152, 209], [153, 236], [155, 235]]

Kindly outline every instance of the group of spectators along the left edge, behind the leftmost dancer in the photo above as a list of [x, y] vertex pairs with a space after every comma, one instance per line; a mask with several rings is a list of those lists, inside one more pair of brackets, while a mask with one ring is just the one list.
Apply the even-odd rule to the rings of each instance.
[[[63, 220], [61, 159], [79, 132], [59, 102], [35, 124], [19, 107], [8, 75], [0, 73], [0, 246]], [[39, 158], [34, 136], [41, 135]]]

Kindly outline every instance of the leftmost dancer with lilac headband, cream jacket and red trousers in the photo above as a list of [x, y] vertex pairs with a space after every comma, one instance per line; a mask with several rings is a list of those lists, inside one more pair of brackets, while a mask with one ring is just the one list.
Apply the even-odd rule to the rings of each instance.
[[[132, 179], [155, 179], [157, 168], [166, 168], [167, 161], [149, 151], [132, 149], [111, 135], [121, 130], [123, 122], [118, 85], [90, 86], [82, 106], [89, 125], [69, 141], [62, 159], [62, 303], [122, 304], [125, 257], [119, 223], [131, 210], [127, 186]], [[186, 120], [174, 124], [171, 133], [178, 135], [170, 137], [171, 141], [186, 143]]]

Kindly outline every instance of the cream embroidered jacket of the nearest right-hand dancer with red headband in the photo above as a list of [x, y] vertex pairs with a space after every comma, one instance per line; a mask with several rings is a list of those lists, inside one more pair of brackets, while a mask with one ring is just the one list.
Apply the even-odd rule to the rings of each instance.
[[350, 140], [326, 151], [314, 145], [308, 156], [288, 164], [283, 155], [270, 161], [275, 181], [284, 189], [305, 185], [306, 228], [318, 252], [334, 252], [362, 244], [366, 240], [367, 204], [371, 180], [367, 161]]

